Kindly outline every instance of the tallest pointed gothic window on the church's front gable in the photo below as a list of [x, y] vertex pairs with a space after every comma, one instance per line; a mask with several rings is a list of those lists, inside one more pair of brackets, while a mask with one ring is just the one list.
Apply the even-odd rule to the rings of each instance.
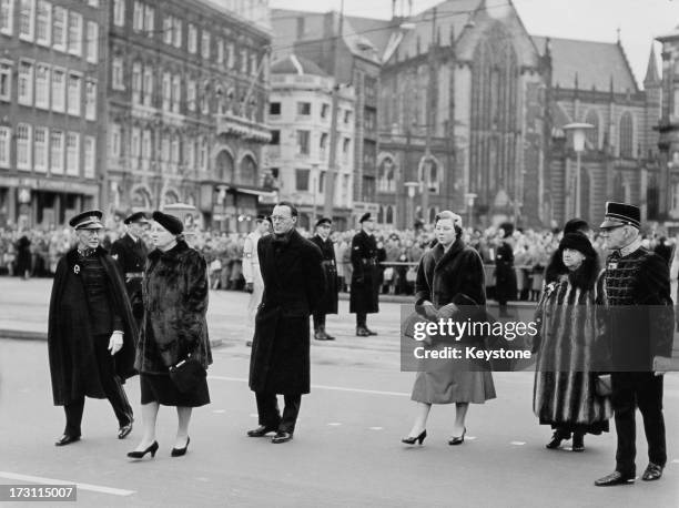
[[488, 203], [503, 189], [515, 192], [519, 133], [518, 60], [511, 35], [501, 24], [485, 33], [472, 69], [470, 190]]

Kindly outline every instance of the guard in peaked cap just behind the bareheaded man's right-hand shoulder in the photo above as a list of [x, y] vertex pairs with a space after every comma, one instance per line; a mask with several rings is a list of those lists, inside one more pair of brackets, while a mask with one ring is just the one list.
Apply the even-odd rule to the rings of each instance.
[[321, 217], [316, 221], [316, 234], [311, 241], [321, 250], [323, 256], [323, 273], [325, 274], [325, 292], [318, 306], [314, 311], [314, 338], [316, 341], [334, 341], [335, 337], [325, 332], [325, 316], [337, 314], [337, 262], [335, 261], [335, 245], [330, 238], [333, 221]]

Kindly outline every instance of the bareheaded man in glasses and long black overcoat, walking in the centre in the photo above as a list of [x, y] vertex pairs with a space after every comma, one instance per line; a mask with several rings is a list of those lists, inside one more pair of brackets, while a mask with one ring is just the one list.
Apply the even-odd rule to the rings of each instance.
[[[302, 394], [311, 389], [308, 317], [325, 289], [321, 251], [295, 230], [297, 210], [278, 203], [273, 235], [257, 242], [264, 295], [255, 318], [250, 357], [250, 388], [255, 393], [260, 426], [250, 437], [275, 431], [272, 443], [292, 439]], [[283, 395], [283, 416], [276, 395]]]

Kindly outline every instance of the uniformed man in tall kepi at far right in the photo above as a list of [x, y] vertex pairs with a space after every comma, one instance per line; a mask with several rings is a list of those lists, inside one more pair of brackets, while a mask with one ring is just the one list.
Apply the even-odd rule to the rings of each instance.
[[641, 246], [640, 210], [606, 203], [600, 234], [611, 251], [604, 274], [609, 308], [607, 337], [611, 349], [612, 406], [618, 448], [616, 470], [595, 485], [635, 481], [636, 407], [643, 416], [649, 464], [642, 480], [657, 480], [667, 463], [662, 416], [662, 374], [669, 369], [673, 308], [665, 260]]

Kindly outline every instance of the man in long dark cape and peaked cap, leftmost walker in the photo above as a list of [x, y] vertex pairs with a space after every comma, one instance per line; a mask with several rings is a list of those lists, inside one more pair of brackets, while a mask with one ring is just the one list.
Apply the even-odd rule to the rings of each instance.
[[52, 285], [48, 324], [52, 394], [67, 418], [57, 446], [80, 439], [85, 396], [109, 399], [120, 439], [132, 431], [132, 408], [122, 383], [135, 374], [136, 326], [115, 262], [100, 246], [101, 216], [93, 210], [70, 221], [78, 245], [59, 261]]

